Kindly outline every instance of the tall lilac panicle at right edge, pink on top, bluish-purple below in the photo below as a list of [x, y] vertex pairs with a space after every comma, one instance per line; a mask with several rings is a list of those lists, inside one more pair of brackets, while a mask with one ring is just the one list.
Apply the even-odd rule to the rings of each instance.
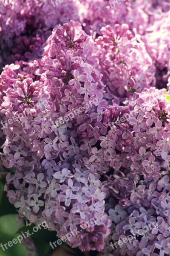
[[[107, 242], [104, 253], [120, 256], [150, 255], [150, 250], [156, 256], [161, 256], [162, 250], [170, 253], [170, 178], [166, 175], [170, 163], [169, 94], [170, 91], [155, 88], [136, 91], [127, 101], [128, 108], [122, 107], [117, 115], [111, 107], [104, 112], [111, 124], [105, 135], [107, 143], [103, 144], [104, 138], [100, 137], [105, 164], [113, 168], [108, 169], [104, 175], [107, 182], [102, 183], [108, 198], [105, 209], [113, 222], [110, 239], [118, 242], [139, 231], [132, 241], [114, 247], [113, 251]], [[114, 125], [125, 113], [128, 119]]]

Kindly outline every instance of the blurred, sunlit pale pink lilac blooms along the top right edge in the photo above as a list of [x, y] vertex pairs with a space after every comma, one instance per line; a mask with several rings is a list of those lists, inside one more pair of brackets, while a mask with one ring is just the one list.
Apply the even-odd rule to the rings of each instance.
[[[76, 2], [76, 1], [75, 1]], [[160, 17], [167, 17], [170, 10], [169, 0], [148, 1], [116, 1], [111, 0], [82, 0], [79, 3], [79, 19], [85, 32], [96, 38], [101, 35], [100, 29], [110, 25], [127, 23], [130, 30], [136, 29], [137, 33], [144, 35], [147, 27]]]

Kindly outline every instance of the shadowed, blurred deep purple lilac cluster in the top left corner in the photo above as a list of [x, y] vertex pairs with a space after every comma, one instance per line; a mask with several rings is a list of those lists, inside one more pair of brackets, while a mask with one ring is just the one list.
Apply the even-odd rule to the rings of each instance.
[[[74, 0], [54, 6], [51, 0], [0, 2], [0, 67], [41, 58], [43, 43], [58, 24], [79, 20]], [[37, 13], [39, 15], [37, 15]]]

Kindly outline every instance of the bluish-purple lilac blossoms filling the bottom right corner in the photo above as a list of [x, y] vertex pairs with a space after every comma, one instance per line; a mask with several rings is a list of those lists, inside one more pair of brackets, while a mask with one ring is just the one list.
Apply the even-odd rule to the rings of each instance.
[[[112, 244], [130, 235], [134, 237], [119, 247], [106, 247], [104, 253], [109, 256], [170, 255], [169, 181], [167, 175], [160, 180], [140, 180], [135, 186], [136, 191], [134, 189], [127, 200], [128, 204], [109, 209], [110, 218], [117, 224], [113, 225], [110, 235]], [[127, 185], [127, 192], [130, 192], [130, 186]], [[125, 220], [127, 213], [129, 217]], [[150, 225], [152, 223], [154, 225]]]

